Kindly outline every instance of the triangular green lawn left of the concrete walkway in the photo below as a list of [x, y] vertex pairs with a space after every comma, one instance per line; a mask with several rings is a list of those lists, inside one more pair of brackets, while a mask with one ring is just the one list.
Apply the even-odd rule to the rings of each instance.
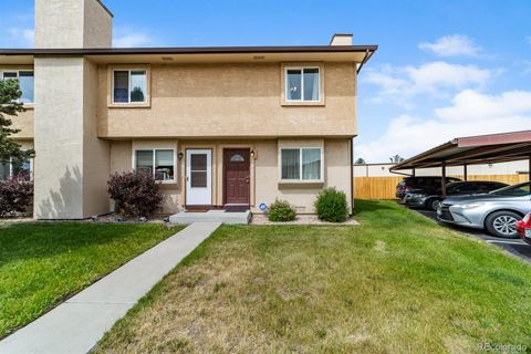
[[159, 225], [0, 225], [0, 337], [177, 230]]

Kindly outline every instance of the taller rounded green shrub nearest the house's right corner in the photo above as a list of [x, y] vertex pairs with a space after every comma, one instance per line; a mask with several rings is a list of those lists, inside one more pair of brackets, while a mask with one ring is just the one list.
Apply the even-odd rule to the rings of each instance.
[[348, 217], [346, 195], [335, 188], [323, 189], [315, 200], [315, 212], [321, 220], [343, 222]]

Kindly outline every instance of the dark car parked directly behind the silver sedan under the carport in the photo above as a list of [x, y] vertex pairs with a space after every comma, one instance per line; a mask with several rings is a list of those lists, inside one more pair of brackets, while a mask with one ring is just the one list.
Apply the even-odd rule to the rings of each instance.
[[[507, 184], [502, 184], [499, 181], [487, 180], [454, 181], [446, 185], [446, 195], [447, 197], [482, 195], [507, 186]], [[437, 210], [440, 202], [442, 201], [441, 195], [442, 192], [440, 188], [437, 189], [435, 192], [413, 192], [407, 196], [405, 202], [409, 207]]]

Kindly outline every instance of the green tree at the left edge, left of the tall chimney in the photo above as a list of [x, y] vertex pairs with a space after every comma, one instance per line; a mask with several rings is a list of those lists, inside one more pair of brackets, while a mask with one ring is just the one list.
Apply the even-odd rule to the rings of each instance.
[[19, 133], [19, 129], [11, 127], [9, 116], [17, 116], [17, 113], [24, 112], [22, 103], [19, 102], [22, 92], [18, 80], [0, 80], [0, 163], [22, 162], [33, 155], [33, 150], [22, 150], [10, 136]]

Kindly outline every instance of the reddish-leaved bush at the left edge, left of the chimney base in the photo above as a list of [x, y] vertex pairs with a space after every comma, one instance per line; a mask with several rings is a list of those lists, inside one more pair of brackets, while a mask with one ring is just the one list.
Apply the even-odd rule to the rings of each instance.
[[0, 217], [25, 215], [33, 204], [33, 181], [27, 174], [0, 180]]

